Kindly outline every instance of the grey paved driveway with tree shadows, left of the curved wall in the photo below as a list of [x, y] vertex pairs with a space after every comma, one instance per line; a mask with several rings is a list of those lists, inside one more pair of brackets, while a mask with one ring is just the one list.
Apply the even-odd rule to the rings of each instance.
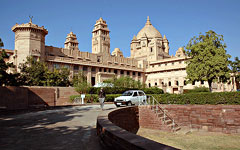
[[0, 149], [101, 150], [96, 136], [101, 111], [89, 105], [0, 117]]

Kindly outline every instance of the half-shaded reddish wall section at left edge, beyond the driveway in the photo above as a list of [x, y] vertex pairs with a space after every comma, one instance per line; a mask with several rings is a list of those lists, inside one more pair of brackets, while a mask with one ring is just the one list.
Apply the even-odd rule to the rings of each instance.
[[55, 100], [54, 88], [0, 87], [1, 110], [55, 106]]

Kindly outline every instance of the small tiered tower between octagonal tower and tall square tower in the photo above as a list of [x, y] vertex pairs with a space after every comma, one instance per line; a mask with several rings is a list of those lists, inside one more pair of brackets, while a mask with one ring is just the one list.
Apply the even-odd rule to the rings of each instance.
[[64, 43], [64, 48], [67, 49], [78, 49], [78, 41], [76, 34], [73, 34], [73, 32], [70, 32], [67, 37], [66, 41]]

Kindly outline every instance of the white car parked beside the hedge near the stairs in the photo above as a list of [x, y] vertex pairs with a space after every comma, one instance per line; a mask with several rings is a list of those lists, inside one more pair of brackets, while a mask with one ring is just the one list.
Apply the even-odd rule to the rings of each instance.
[[120, 105], [140, 105], [147, 101], [146, 94], [141, 90], [129, 90], [114, 99], [114, 104], [119, 107]]

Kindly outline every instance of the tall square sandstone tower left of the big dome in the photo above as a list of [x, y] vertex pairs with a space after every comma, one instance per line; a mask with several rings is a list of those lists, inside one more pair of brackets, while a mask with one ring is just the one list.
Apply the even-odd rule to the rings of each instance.
[[92, 31], [92, 53], [104, 53], [110, 55], [110, 37], [106, 21], [100, 17]]

